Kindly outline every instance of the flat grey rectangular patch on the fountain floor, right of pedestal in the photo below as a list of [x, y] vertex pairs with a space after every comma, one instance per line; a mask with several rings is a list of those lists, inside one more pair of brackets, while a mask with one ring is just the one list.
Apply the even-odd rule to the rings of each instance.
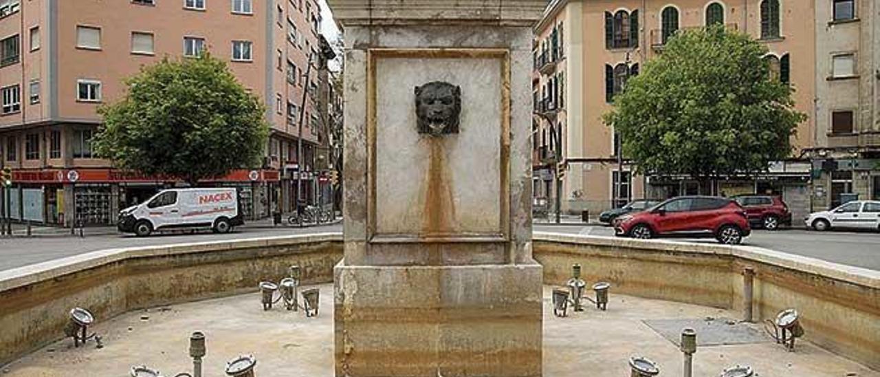
[[657, 334], [672, 344], [679, 346], [681, 330], [691, 328], [697, 331], [697, 344], [753, 344], [765, 343], [770, 339], [760, 332], [752, 323], [736, 322], [729, 318], [644, 320], [642, 321]]

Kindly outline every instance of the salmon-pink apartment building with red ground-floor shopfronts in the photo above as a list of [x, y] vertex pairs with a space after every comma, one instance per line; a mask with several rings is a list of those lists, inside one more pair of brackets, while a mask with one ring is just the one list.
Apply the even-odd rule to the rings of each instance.
[[327, 58], [319, 23], [316, 0], [0, 0], [0, 163], [13, 169], [12, 217], [112, 224], [121, 207], [174, 184], [100, 159], [97, 108], [141, 67], [206, 49], [264, 100], [272, 125], [262, 166], [209, 184], [240, 188], [251, 218], [290, 211], [296, 174], [313, 201]]

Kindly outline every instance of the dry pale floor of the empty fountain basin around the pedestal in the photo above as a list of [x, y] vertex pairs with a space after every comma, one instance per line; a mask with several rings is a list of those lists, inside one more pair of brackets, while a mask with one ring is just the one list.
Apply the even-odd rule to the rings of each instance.
[[[131, 366], [142, 364], [165, 376], [191, 373], [189, 335], [199, 330], [207, 338], [208, 353], [202, 363], [205, 376], [224, 376], [226, 361], [240, 354], [256, 357], [258, 377], [332, 376], [333, 285], [318, 286], [318, 318], [305, 318], [302, 311], [289, 312], [282, 305], [263, 311], [259, 293], [150, 308], [109, 321], [99, 318], [94, 329], [103, 336], [102, 349], [96, 349], [93, 341], [73, 348], [72, 340], [64, 339], [4, 366], [0, 375], [122, 377]], [[661, 376], [681, 375], [678, 346], [645, 322], [657, 327], [657, 322], [675, 323], [672, 320], [686, 323], [706, 317], [717, 321], [737, 317], [723, 309], [615, 295], [612, 291], [606, 312], [586, 307], [583, 312], [569, 310], [568, 317], [556, 318], [550, 306], [550, 289], [546, 286], [544, 292], [546, 376], [627, 376], [627, 359], [633, 355], [656, 361]], [[756, 325], [737, 326], [759, 330]], [[806, 331], [809, 335], [810, 329]], [[880, 372], [809, 342], [798, 342], [797, 350], [788, 352], [766, 336], [759, 339], [753, 335], [754, 331], [744, 343], [735, 345], [701, 346], [694, 355], [693, 374], [716, 376], [723, 368], [740, 364], [752, 366], [765, 377], [880, 377]], [[699, 332], [697, 337], [700, 339]]]

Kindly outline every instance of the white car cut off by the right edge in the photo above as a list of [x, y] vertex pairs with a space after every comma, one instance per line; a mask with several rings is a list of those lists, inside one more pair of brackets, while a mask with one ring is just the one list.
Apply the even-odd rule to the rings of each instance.
[[818, 231], [831, 228], [880, 230], [880, 202], [860, 200], [844, 203], [831, 211], [811, 213], [804, 223]]

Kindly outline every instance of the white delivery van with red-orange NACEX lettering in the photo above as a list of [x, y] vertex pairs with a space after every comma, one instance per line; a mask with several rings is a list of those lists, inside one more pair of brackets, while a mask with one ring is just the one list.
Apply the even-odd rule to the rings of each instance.
[[194, 227], [229, 233], [244, 223], [235, 188], [172, 188], [120, 211], [117, 227], [144, 237], [154, 231]]

